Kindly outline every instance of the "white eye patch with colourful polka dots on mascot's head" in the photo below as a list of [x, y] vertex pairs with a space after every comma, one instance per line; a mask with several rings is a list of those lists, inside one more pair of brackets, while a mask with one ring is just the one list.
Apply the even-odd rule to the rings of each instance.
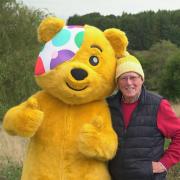
[[82, 26], [65, 26], [45, 44], [40, 52], [35, 66], [35, 75], [44, 74], [72, 59], [81, 47], [83, 39]]

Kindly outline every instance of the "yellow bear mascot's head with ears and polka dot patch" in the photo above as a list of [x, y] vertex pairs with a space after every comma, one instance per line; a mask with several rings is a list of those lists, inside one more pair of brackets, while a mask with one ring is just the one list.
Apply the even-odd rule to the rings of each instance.
[[48, 17], [38, 28], [37, 84], [67, 104], [82, 104], [110, 95], [115, 87], [117, 58], [127, 54], [124, 32], [111, 28], [65, 26]]

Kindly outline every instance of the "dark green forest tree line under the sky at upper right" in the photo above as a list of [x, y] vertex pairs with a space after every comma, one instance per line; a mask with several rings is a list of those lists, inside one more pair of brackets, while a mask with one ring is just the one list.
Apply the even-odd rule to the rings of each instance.
[[133, 50], [147, 50], [162, 39], [180, 46], [180, 10], [123, 13], [121, 16], [90, 13], [83, 16], [74, 15], [68, 19], [68, 24], [89, 24], [101, 30], [119, 28], [126, 32], [130, 42], [129, 48]]

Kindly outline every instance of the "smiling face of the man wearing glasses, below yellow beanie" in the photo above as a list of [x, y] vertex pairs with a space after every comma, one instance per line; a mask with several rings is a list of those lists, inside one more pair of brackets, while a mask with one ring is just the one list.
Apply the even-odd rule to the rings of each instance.
[[143, 82], [139, 74], [128, 72], [118, 78], [118, 88], [125, 99], [131, 100], [140, 94]]

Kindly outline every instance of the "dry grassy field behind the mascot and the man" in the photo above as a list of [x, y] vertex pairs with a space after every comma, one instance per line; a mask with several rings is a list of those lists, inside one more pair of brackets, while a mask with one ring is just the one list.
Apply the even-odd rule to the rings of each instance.
[[[173, 109], [180, 117], [180, 104]], [[28, 139], [9, 136], [0, 127], [0, 180], [20, 180], [27, 144]], [[180, 163], [169, 170], [167, 180], [180, 180]]]

